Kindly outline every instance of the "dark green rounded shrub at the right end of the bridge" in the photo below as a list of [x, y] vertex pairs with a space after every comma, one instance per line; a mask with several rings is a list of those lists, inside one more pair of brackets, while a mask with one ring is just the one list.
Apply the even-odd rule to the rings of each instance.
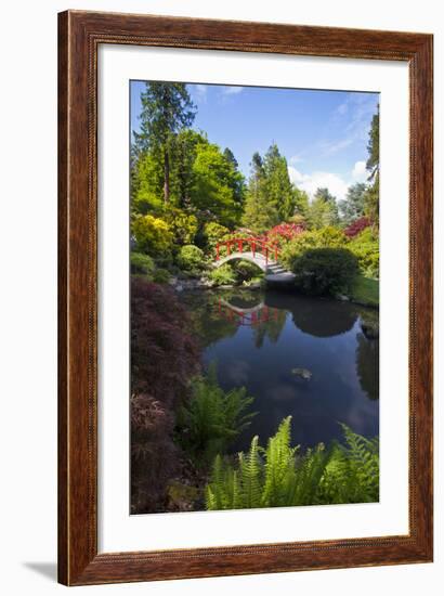
[[292, 263], [297, 286], [315, 296], [348, 293], [358, 273], [356, 257], [345, 248], [305, 250]]

